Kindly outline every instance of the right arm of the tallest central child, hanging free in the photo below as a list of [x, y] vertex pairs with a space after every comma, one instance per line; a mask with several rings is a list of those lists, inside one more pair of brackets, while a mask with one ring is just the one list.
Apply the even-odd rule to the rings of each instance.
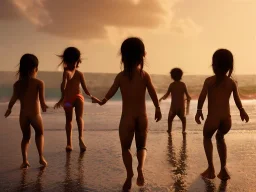
[[152, 84], [151, 78], [149, 76], [148, 73], [145, 73], [145, 79], [146, 79], [146, 86], [147, 86], [147, 90], [148, 93], [155, 105], [155, 120], [156, 122], [160, 121], [162, 119], [162, 113], [161, 113], [161, 109], [159, 107], [159, 102], [158, 102], [158, 98], [157, 98], [157, 94], [156, 94], [156, 90]]

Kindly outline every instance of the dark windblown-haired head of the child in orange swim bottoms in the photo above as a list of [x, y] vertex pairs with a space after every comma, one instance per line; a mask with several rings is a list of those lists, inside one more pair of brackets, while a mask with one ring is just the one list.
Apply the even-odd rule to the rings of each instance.
[[75, 47], [68, 47], [64, 50], [63, 54], [59, 57], [62, 58], [60, 65], [63, 65], [65, 69], [74, 70], [81, 63], [81, 53]]

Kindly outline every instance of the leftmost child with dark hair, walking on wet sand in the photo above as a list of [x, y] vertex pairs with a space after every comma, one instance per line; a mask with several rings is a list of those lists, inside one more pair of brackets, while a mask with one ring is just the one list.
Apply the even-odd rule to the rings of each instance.
[[13, 85], [13, 95], [9, 102], [5, 117], [8, 117], [12, 112], [12, 107], [17, 100], [20, 100], [20, 127], [22, 131], [21, 152], [23, 162], [21, 169], [28, 168], [29, 162], [27, 158], [27, 150], [31, 137], [30, 125], [35, 130], [36, 146], [39, 153], [39, 163], [43, 166], [47, 165], [43, 156], [44, 149], [44, 128], [40, 107], [43, 112], [48, 108], [44, 99], [44, 82], [36, 79], [38, 71], [38, 59], [35, 55], [25, 54], [20, 59], [19, 80]]

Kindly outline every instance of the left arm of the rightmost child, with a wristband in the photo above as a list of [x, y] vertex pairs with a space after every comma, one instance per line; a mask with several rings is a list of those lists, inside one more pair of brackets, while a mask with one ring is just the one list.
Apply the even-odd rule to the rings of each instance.
[[197, 124], [201, 124], [200, 118], [202, 120], [204, 120], [204, 116], [203, 116], [203, 112], [202, 112], [202, 108], [204, 105], [204, 101], [206, 99], [208, 93], [208, 80], [206, 79], [203, 85], [203, 89], [200, 93], [200, 96], [198, 98], [198, 103], [197, 103], [197, 112], [196, 112], [196, 116], [195, 116], [195, 121], [197, 122]]

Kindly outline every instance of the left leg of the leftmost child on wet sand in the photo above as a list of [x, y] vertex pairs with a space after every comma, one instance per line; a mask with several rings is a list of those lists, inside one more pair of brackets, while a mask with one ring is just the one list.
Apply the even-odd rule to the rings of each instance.
[[29, 140], [31, 137], [31, 129], [30, 129], [30, 121], [27, 117], [20, 115], [20, 127], [22, 131], [22, 141], [21, 141], [21, 153], [22, 153], [22, 159], [23, 162], [20, 166], [20, 168], [27, 168], [29, 167], [28, 162], [28, 146], [29, 146]]

